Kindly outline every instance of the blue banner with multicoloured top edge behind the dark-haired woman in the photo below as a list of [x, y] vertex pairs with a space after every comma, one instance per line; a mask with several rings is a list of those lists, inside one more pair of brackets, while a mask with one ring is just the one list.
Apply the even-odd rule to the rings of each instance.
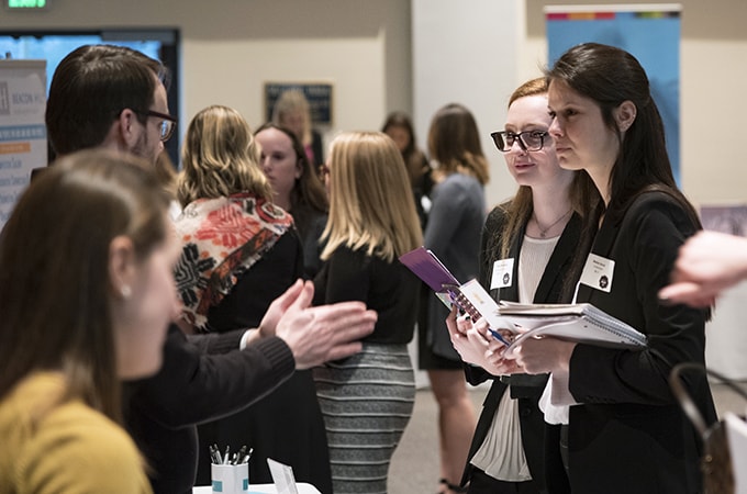
[[617, 46], [648, 75], [664, 120], [667, 151], [680, 182], [680, 4], [548, 5], [548, 63], [579, 43]]

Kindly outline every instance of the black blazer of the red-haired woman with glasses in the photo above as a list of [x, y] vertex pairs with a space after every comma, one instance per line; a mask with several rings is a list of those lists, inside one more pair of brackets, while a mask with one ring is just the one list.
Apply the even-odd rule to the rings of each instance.
[[[494, 246], [500, 246], [500, 235], [497, 233], [503, 232], [505, 223], [504, 212], [501, 207], [494, 209], [482, 229], [481, 247], [480, 247], [480, 283], [490, 289], [490, 278], [492, 273], [492, 266], [498, 256], [494, 252]], [[514, 282], [511, 287], [503, 289], [491, 290], [490, 294], [493, 299], [519, 301], [519, 256], [521, 254], [522, 243], [524, 240], [526, 225], [519, 233], [516, 238], [511, 243], [509, 250], [509, 258], [514, 259], [512, 279]], [[568, 225], [558, 239], [558, 244], [553, 250], [553, 255], [545, 267], [537, 291], [534, 295], [535, 303], [556, 303], [565, 302], [561, 300], [564, 282], [566, 273], [569, 271], [573, 255], [577, 252], [578, 243], [581, 235], [581, 218], [573, 214]], [[498, 379], [495, 375], [488, 373], [484, 369], [465, 366], [467, 381], [471, 384], [479, 384], [488, 379], [492, 380], [490, 391], [482, 404], [482, 412], [478, 419], [477, 428], [472, 444], [469, 448], [467, 457], [467, 465], [462, 475], [462, 485], [467, 483], [473, 469], [469, 460], [475, 456], [477, 450], [484, 441], [493, 417], [498, 412], [498, 406], [511, 383], [511, 397], [519, 400], [519, 416], [522, 430], [522, 444], [524, 446], [524, 453], [532, 473], [533, 483], [536, 489], [544, 492], [545, 485], [545, 428], [546, 424], [542, 411], [538, 407], [539, 396], [547, 382], [547, 374], [543, 375], [512, 375], [506, 379]]]

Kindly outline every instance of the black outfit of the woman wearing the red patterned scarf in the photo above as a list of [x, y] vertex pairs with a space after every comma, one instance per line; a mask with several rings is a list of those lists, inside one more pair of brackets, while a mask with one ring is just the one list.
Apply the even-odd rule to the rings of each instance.
[[[278, 242], [241, 274], [236, 285], [208, 313], [213, 332], [257, 327], [270, 303], [302, 277], [301, 240], [296, 229]], [[272, 393], [252, 406], [220, 420], [203, 424], [200, 434], [198, 485], [210, 484], [209, 446], [232, 451], [254, 448], [249, 461], [252, 483], [271, 483], [267, 458], [293, 468], [298, 482], [332, 492], [332, 473], [324, 419], [316, 401], [311, 371], [297, 371]]]

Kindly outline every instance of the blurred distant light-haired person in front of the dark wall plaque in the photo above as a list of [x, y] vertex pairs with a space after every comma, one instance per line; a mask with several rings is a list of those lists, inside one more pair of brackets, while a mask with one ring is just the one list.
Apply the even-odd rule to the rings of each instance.
[[298, 89], [283, 91], [272, 109], [272, 123], [296, 134], [314, 169], [324, 165], [322, 135], [311, 126], [311, 109], [303, 92]]

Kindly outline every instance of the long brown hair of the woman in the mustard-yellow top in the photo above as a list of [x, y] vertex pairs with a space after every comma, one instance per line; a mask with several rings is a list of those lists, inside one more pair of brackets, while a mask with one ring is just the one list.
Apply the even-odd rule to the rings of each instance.
[[166, 239], [168, 197], [148, 165], [85, 150], [41, 173], [0, 238], [0, 397], [34, 371], [58, 371], [67, 392], [121, 422], [110, 308], [110, 244], [138, 259]]

